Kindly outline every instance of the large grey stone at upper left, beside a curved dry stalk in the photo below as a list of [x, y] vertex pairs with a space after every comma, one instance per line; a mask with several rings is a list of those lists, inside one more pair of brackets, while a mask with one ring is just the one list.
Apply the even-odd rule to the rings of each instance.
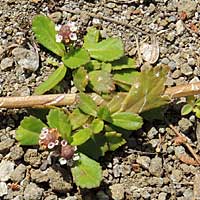
[[35, 72], [39, 67], [39, 56], [37, 52], [25, 48], [15, 48], [12, 51], [15, 62], [21, 69]]

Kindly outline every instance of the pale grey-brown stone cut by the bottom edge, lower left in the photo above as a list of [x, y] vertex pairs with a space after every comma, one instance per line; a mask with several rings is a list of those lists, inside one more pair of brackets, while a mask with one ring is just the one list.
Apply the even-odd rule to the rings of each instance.
[[24, 200], [40, 200], [44, 189], [39, 188], [35, 183], [30, 183], [24, 190]]

